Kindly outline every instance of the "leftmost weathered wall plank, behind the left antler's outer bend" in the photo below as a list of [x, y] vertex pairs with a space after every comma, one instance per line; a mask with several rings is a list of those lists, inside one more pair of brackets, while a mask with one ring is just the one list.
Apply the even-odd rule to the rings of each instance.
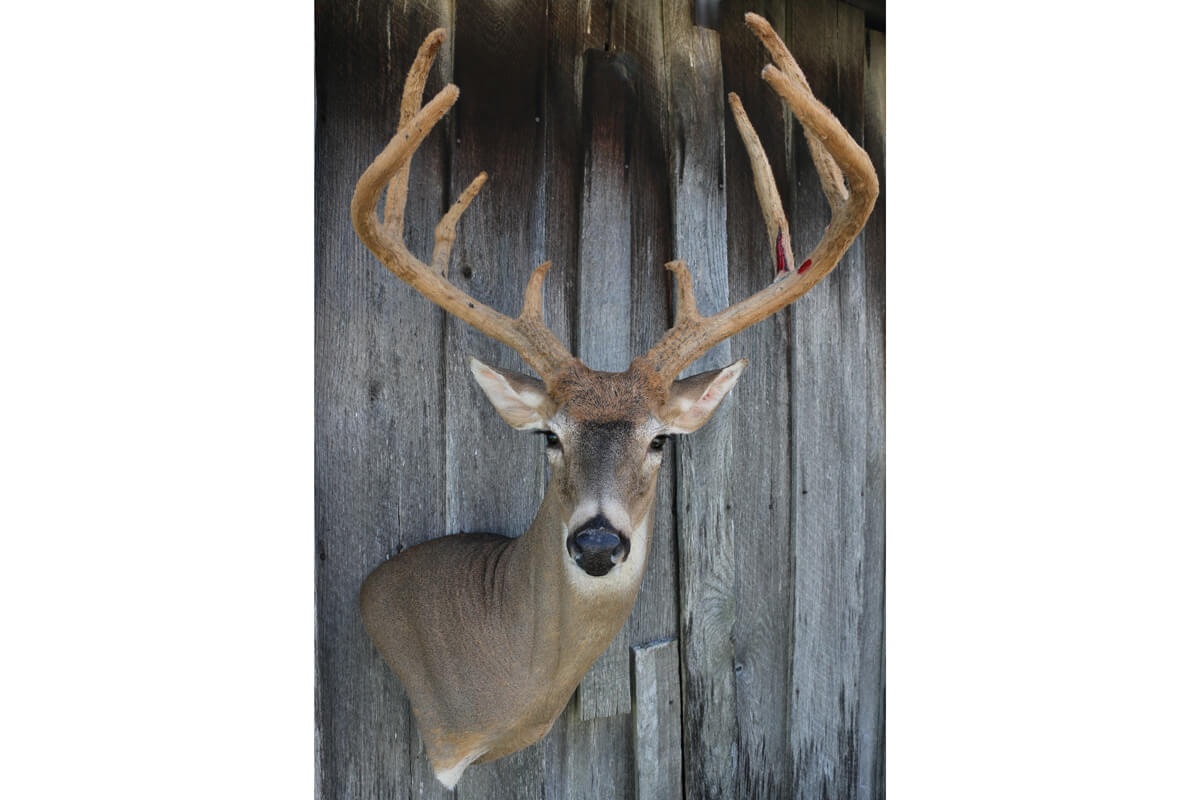
[[[442, 533], [442, 312], [386, 271], [350, 228], [358, 175], [395, 131], [403, 77], [442, 2], [410, 32], [388, 2], [317, 6], [316, 516], [317, 790], [409, 796], [415, 726], [400, 680], [362, 631], [362, 578]], [[431, 83], [450, 72], [442, 60]], [[442, 77], [439, 78], [439, 73]], [[444, 204], [444, 137], [418, 154], [410, 245], [428, 252]], [[409, 474], [409, 470], [412, 473]], [[406, 480], [407, 479], [407, 480]]]

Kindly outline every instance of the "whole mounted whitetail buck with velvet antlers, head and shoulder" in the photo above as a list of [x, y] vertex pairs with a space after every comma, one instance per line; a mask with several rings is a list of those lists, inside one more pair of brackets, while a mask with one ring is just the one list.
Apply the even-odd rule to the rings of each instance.
[[[775, 281], [703, 317], [684, 263], [667, 264], [676, 281], [674, 325], [625, 372], [589, 369], [546, 327], [541, 287], [548, 261], [533, 271], [515, 319], [446, 279], [455, 225], [485, 174], [438, 223], [431, 263], [404, 246], [409, 162], [458, 97], [458, 89], [448, 85], [419, 108], [444, 30], [421, 44], [404, 83], [398, 131], [359, 179], [350, 209], [354, 229], [371, 252], [428, 300], [515, 349], [541, 375], [536, 380], [470, 362], [475, 380], [509, 425], [546, 437], [552, 476], [524, 535], [434, 539], [400, 553], [362, 584], [366, 630], [403, 682], [430, 763], [446, 787], [469, 764], [541, 739], [629, 616], [650, 547], [662, 444], [668, 434], [704, 425], [746, 362], [676, 377], [714, 344], [787, 306], [828, 275], [875, 205], [878, 180], [866, 154], [812, 96], [767, 20], [746, 14], [746, 23], [775, 61], [762, 77], [804, 126], [832, 221], [797, 266], [770, 166], [731, 94], [774, 247]], [[376, 207], [385, 185], [380, 223]]]

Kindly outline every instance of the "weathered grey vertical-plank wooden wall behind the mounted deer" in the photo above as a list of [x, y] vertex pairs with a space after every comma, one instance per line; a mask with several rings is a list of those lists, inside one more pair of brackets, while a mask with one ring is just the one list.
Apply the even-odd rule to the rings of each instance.
[[[410, 247], [431, 252], [486, 169], [451, 279], [515, 313], [552, 259], [551, 327], [620, 369], [670, 325], [666, 260], [689, 263], [704, 313], [773, 277], [726, 92], [758, 130], [798, 254], [828, 221], [745, 11], [773, 22], [884, 176], [884, 38], [854, 5], [318, 0], [319, 796], [449, 794], [362, 630], [359, 585], [426, 539], [520, 534], [546, 477], [538, 439], [467, 371], [467, 354], [520, 359], [397, 281], [349, 225], [420, 41], [449, 29], [426, 96], [452, 77], [462, 97], [415, 158]], [[750, 360], [664, 465], [631, 619], [550, 735], [468, 769], [458, 796], [883, 796], [883, 206], [827, 281], [689, 369]]]

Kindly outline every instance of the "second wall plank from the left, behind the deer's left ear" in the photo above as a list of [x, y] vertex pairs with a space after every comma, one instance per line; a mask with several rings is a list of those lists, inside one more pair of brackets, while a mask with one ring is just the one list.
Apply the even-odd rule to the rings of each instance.
[[[546, 8], [541, 2], [473, 4], [454, 29], [455, 106], [450, 186], [457, 194], [486, 170], [487, 185], [458, 223], [451, 281], [515, 315], [545, 243], [541, 102]], [[457, 319], [446, 331], [446, 523], [450, 531], [524, 531], [541, 500], [540, 443], [504, 423], [479, 390], [467, 356], [523, 371], [518, 356]], [[545, 742], [469, 768], [460, 798], [540, 798]]]

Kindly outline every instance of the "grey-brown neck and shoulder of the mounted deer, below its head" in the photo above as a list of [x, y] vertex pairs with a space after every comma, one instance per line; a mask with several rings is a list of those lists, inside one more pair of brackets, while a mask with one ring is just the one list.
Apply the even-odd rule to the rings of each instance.
[[362, 584], [367, 633], [404, 685], [436, 771], [541, 739], [632, 610], [641, 571], [628, 595], [583, 599], [564, 584], [552, 498], [518, 539], [434, 539]]

